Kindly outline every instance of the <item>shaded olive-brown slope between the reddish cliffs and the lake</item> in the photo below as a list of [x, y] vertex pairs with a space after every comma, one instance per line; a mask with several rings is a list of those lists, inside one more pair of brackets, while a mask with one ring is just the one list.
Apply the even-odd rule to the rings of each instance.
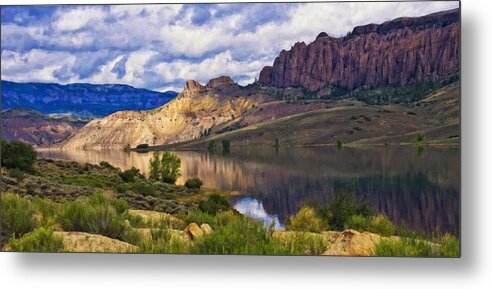
[[352, 145], [397, 145], [415, 142], [418, 133], [428, 144], [458, 144], [459, 91], [459, 85], [453, 83], [409, 105], [367, 105], [347, 99], [334, 103], [332, 108], [293, 114], [160, 149], [206, 149], [209, 141], [222, 139], [229, 140], [232, 147], [273, 146], [275, 139], [280, 146], [335, 145], [337, 140]]

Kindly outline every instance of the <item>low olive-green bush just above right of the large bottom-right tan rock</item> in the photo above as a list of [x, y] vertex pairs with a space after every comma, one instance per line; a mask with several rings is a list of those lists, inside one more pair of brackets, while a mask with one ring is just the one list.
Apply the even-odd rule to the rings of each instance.
[[353, 215], [345, 223], [345, 229], [354, 229], [360, 232], [368, 231], [381, 236], [392, 236], [395, 233], [395, 225], [384, 215], [364, 217]]

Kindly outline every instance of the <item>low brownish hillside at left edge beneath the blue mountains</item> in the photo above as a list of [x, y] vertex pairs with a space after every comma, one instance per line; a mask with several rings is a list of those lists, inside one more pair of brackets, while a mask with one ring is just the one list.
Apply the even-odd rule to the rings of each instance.
[[8, 109], [2, 112], [2, 139], [23, 141], [39, 147], [52, 146], [86, 123], [83, 119], [55, 118], [30, 109]]

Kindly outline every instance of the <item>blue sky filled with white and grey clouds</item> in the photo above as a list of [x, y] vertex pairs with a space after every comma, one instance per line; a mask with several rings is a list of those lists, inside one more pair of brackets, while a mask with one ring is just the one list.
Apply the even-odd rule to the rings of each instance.
[[320, 32], [457, 8], [458, 2], [3, 6], [1, 77], [181, 91], [228, 75], [255, 81]]

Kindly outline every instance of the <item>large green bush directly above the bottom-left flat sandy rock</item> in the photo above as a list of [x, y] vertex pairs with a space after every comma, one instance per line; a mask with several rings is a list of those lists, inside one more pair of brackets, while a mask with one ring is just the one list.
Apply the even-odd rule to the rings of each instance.
[[65, 231], [82, 231], [120, 239], [128, 204], [104, 194], [78, 198], [63, 204], [59, 222]]

